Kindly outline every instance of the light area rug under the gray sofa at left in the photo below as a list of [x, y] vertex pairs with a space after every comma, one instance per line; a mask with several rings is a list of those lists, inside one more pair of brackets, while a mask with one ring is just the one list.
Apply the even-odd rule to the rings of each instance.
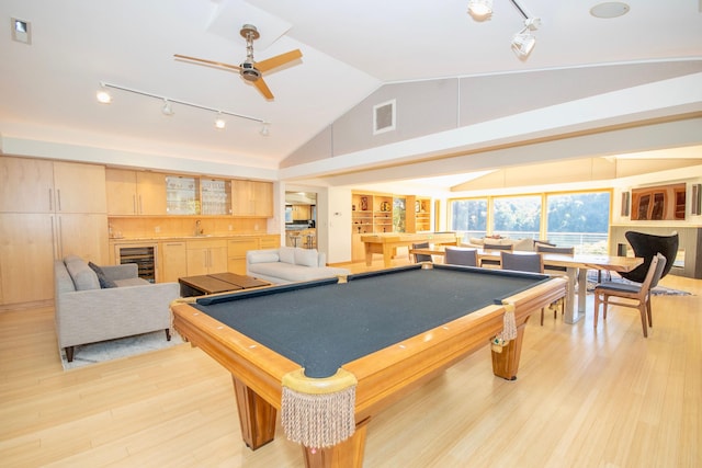
[[64, 365], [64, 370], [75, 369], [106, 361], [165, 350], [182, 343], [183, 340], [177, 332], [171, 331], [171, 341], [166, 341], [166, 333], [160, 330], [118, 340], [76, 346], [73, 361], [70, 363], [66, 359], [66, 351], [61, 350], [61, 364]]

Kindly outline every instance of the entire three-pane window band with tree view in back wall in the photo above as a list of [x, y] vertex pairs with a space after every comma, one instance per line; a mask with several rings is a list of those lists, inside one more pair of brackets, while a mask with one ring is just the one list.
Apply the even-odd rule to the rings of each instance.
[[464, 239], [547, 239], [578, 253], [608, 251], [610, 191], [452, 199], [450, 227]]

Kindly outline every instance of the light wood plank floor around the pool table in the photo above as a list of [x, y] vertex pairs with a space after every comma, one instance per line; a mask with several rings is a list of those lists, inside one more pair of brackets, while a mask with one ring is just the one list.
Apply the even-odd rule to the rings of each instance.
[[[354, 271], [364, 270], [353, 265]], [[381, 413], [365, 467], [701, 467], [702, 281], [656, 296], [644, 339], [633, 309], [532, 320], [519, 378], [488, 347]], [[0, 313], [0, 466], [298, 467], [279, 427], [241, 442], [229, 375], [184, 344], [64, 372], [50, 308]]]

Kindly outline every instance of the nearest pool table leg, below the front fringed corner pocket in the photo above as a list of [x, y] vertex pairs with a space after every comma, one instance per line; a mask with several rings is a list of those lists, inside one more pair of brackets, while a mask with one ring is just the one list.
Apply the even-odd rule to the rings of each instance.
[[365, 426], [371, 418], [355, 425], [353, 435], [341, 444], [326, 448], [303, 446], [307, 468], [362, 468], [365, 450]]

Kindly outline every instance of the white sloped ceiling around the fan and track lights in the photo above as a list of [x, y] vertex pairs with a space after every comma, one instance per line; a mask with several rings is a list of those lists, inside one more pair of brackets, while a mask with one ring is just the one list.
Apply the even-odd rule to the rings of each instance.
[[[599, 2], [519, 0], [542, 19], [534, 52], [520, 60], [510, 38], [523, 19], [508, 0], [495, 0], [483, 23], [466, 14], [467, 0], [2, 0], [0, 135], [278, 170], [385, 83], [702, 58], [701, 0], [627, 0], [631, 11], [609, 20], [589, 14]], [[11, 18], [31, 22], [31, 45], [11, 39]], [[258, 60], [303, 53], [265, 76], [272, 102], [236, 72], [173, 59], [238, 65], [245, 23], [261, 34]], [[101, 81], [261, 118], [271, 134], [236, 117], [215, 130], [213, 113], [178, 104], [165, 116], [161, 102], [127, 92], [99, 104]]]

